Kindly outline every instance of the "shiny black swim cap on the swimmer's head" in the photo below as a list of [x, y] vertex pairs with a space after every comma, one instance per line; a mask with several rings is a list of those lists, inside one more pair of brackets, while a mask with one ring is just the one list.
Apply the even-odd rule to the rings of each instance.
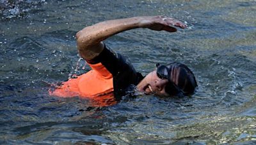
[[[170, 95], [192, 95], [195, 92], [197, 86], [196, 78], [186, 65], [172, 62], [167, 64], [166, 67], [169, 69], [169, 82], [172, 82], [175, 87], [166, 87], [165, 92]], [[173, 84], [170, 85], [173, 86]]]

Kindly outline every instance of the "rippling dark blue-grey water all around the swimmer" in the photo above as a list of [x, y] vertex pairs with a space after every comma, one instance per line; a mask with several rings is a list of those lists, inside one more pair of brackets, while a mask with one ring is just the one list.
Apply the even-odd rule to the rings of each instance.
[[[113, 106], [48, 95], [81, 74], [74, 35], [137, 15], [188, 23], [176, 33], [136, 29], [109, 38], [143, 74], [187, 64], [198, 91], [184, 99], [138, 94]], [[0, 144], [256, 144], [256, 1], [0, 1]]]

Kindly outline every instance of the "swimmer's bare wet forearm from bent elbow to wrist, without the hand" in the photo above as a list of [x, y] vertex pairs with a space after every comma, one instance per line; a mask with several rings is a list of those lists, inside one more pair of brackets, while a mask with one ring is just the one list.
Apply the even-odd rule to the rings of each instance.
[[140, 27], [140, 17], [108, 20], [77, 32], [77, 49], [84, 59], [93, 59], [102, 51], [100, 42], [119, 32]]

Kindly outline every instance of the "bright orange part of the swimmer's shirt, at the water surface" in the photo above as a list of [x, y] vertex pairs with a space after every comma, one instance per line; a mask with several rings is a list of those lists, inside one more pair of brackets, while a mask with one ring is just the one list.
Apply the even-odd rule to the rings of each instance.
[[101, 63], [89, 64], [91, 71], [68, 79], [54, 91], [49, 90], [50, 95], [58, 97], [95, 97], [113, 92], [113, 76]]

